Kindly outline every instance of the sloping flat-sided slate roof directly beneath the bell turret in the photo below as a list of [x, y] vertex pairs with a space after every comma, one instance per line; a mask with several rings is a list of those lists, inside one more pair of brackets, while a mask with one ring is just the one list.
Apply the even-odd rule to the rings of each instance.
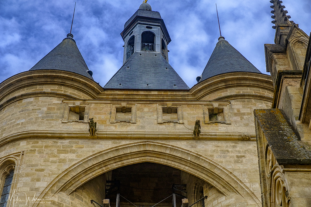
[[104, 88], [142, 90], [188, 90], [160, 52], [134, 52]]

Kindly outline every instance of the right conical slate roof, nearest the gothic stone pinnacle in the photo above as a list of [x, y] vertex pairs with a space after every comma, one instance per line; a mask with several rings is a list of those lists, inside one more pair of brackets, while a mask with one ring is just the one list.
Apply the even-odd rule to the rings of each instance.
[[239, 51], [232, 47], [223, 37], [216, 44], [216, 47], [208, 60], [201, 82], [215, 75], [230, 72], [252, 72], [261, 73], [252, 63], [250, 63]]

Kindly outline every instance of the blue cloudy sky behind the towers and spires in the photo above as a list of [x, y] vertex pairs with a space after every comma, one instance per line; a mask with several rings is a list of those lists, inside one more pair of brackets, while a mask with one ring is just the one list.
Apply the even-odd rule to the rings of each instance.
[[[104, 86], [122, 66], [124, 23], [142, 0], [77, 0], [72, 34], [93, 78]], [[169, 63], [191, 88], [221, 34], [266, 73], [264, 44], [274, 43], [269, 0], [149, 0], [172, 41]], [[75, 0], [0, 1], [0, 82], [29, 70], [70, 32]], [[311, 32], [311, 1], [283, 0], [295, 23]]]

